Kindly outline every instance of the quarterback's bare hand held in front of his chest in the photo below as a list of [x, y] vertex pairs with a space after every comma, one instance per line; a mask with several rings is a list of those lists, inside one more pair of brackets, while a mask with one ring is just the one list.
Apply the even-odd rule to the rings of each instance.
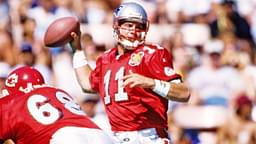
[[124, 86], [130, 86], [130, 88], [139, 86], [142, 88], [153, 88], [155, 85], [154, 79], [145, 77], [143, 75], [133, 73], [131, 70], [129, 71], [128, 75], [123, 77]]

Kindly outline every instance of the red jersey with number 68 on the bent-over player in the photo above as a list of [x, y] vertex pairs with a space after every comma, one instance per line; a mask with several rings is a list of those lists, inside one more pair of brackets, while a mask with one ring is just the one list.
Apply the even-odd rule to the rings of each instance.
[[60, 89], [42, 87], [0, 99], [0, 141], [49, 144], [52, 135], [65, 126], [99, 129]]

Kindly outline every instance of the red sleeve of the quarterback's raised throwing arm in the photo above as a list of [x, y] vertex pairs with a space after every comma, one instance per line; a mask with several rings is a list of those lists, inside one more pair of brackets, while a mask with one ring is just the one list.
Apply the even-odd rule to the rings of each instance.
[[90, 84], [93, 90], [99, 91], [100, 72], [101, 72], [102, 58], [98, 58], [96, 62], [96, 68], [90, 73]]

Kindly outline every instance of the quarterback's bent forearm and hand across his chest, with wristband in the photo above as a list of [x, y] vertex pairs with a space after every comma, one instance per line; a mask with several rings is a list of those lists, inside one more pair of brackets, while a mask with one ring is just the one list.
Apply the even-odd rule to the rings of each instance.
[[190, 97], [189, 88], [181, 81], [173, 80], [171, 82], [152, 79], [143, 75], [130, 72], [124, 76], [124, 86], [140, 86], [142, 88], [150, 88], [158, 95], [167, 99], [179, 102], [187, 102]]

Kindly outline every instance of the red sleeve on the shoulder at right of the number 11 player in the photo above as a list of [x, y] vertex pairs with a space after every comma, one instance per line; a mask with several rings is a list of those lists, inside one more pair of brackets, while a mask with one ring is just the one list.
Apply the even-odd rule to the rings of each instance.
[[181, 79], [181, 76], [173, 69], [171, 54], [165, 48], [157, 48], [147, 64], [154, 78], [165, 81]]

